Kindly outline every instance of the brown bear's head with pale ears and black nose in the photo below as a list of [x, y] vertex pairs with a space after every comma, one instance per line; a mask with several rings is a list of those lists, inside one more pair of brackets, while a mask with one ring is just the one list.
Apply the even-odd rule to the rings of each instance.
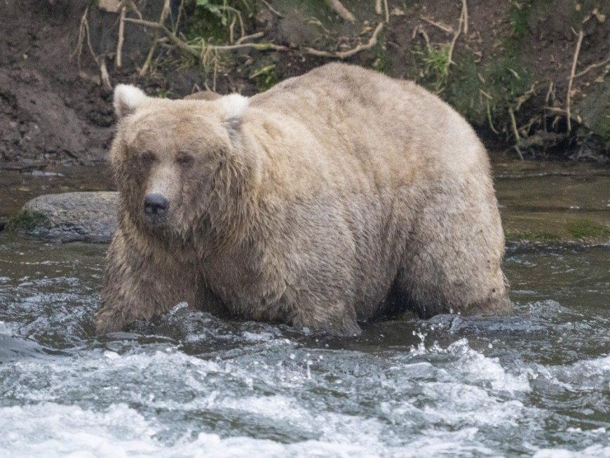
[[248, 98], [168, 100], [118, 85], [114, 109], [110, 158], [123, 218], [168, 240], [229, 229], [222, 224], [243, 213], [255, 175], [243, 133]]

